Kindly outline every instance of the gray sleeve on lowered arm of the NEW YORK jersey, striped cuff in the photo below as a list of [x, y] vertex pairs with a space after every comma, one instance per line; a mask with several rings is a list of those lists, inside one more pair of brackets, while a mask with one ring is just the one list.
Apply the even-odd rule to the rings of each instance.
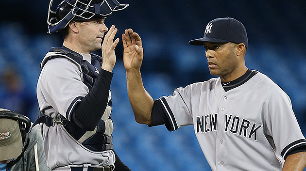
[[285, 160], [288, 155], [306, 151], [306, 140], [297, 122], [289, 96], [279, 87], [272, 88], [265, 124], [272, 147]]

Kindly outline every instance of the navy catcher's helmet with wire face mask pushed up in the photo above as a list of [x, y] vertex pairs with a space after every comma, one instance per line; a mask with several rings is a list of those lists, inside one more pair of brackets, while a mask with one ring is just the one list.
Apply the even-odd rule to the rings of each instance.
[[51, 10], [52, 2], [49, 2], [47, 21], [50, 34], [63, 30], [71, 21], [105, 18], [129, 6], [117, 0], [63, 0], [55, 12]]

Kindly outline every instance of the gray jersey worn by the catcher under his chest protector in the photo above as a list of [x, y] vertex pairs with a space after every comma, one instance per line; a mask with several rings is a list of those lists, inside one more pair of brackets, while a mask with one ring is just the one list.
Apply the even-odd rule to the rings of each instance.
[[[57, 52], [49, 52], [42, 63], [50, 56], [61, 56]], [[85, 97], [89, 93], [88, 87], [83, 82], [81, 66], [62, 55], [63, 58], [51, 59], [41, 68], [41, 74], [37, 83], [37, 99], [39, 108], [47, 116], [62, 117], [71, 120], [71, 111], [75, 107], [80, 97]], [[90, 60], [89, 60], [90, 61]], [[99, 68], [100, 69], [100, 68]], [[97, 71], [99, 73], [99, 70]], [[110, 93], [108, 97], [110, 101]], [[110, 116], [111, 107], [107, 106], [103, 120]], [[107, 122], [105, 122], [105, 125]], [[112, 127], [110, 125], [106, 125]], [[109, 135], [112, 133], [109, 133]], [[86, 136], [93, 135], [90, 131], [80, 140], [74, 140], [62, 124], [42, 127], [44, 138], [45, 155], [48, 166], [51, 170], [69, 171], [70, 167], [77, 166], [105, 166], [113, 165], [115, 154], [112, 150], [96, 152], [87, 149], [82, 142]]]

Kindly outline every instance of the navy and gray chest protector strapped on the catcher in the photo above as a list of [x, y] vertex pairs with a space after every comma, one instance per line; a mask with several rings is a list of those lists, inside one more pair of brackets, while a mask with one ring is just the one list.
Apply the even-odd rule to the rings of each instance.
[[[43, 61], [40, 64], [40, 68], [42, 69], [44, 65], [51, 59], [55, 58], [67, 58], [71, 62], [75, 63], [79, 66], [80, 71], [82, 72], [82, 80], [83, 83], [88, 87], [88, 90], [90, 91], [94, 85], [94, 82], [96, 78], [98, 77], [99, 71], [97, 68], [101, 68], [102, 66], [102, 57], [91, 54], [91, 64], [87, 61], [83, 61], [83, 57], [66, 48], [66, 47], [52, 47], [50, 49], [50, 52], [47, 53], [46, 57], [43, 59]], [[107, 107], [104, 111], [102, 119], [107, 116], [107, 118], [104, 118], [104, 120], [111, 120], [110, 112], [112, 108], [112, 101], [108, 99]], [[85, 129], [82, 129], [78, 125], [74, 124], [73, 122], [68, 121], [66, 118], [64, 118], [61, 114], [57, 114], [55, 117], [50, 117], [47, 115], [44, 115], [44, 111], [52, 109], [52, 107], [43, 109], [42, 116], [39, 117], [33, 126], [38, 123], [44, 123], [47, 126], [54, 126], [55, 124], [62, 124], [68, 134], [70, 134], [74, 140], [80, 142], [82, 145], [84, 145], [86, 148], [88, 148], [91, 151], [95, 152], [101, 152], [105, 150], [111, 150], [113, 149], [113, 136], [112, 136], [112, 130], [113, 130], [113, 123], [111, 122], [105, 122], [104, 120], [100, 120], [99, 123], [96, 125], [96, 128], [94, 131], [87, 131]], [[105, 123], [106, 126], [111, 127], [111, 133], [110, 136], [105, 135]], [[109, 128], [108, 128], [109, 130]]]

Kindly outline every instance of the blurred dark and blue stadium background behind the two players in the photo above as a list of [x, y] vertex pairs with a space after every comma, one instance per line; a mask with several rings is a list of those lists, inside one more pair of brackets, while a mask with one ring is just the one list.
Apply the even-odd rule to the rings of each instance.
[[[143, 82], [154, 99], [213, 77], [204, 47], [188, 41], [203, 37], [212, 19], [229, 16], [248, 32], [247, 67], [268, 75], [289, 94], [306, 134], [306, 0], [119, 1], [130, 6], [105, 23], [118, 28], [119, 38], [128, 28], [141, 36]], [[61, 33], [47, 33], [48, 5], [48, 0], [0, 0], [0, 108], [25, 114], [32, 122], [38, 116], [39, 64], [50, 47], [63, 41]], [[169, 132], [164, 125], [149, 128], [135, 122], [122, 51], [120, 40], [111, 91], [114, 148], [121, 160], [132, 171], [211, 171], [193, 126]]]

